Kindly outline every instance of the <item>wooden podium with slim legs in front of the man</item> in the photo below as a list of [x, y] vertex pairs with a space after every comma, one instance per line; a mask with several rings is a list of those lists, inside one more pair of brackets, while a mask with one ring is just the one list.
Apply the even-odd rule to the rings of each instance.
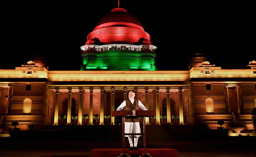
[[[143, 135], [143, 145], [144, 145], [144, 153], [141, 157], [151, 157], [150, 154], [146, 152], [146, 122], [145, 117], [155, 116], [156, 111], [151, 110], [121, 110], [121, 111], [111, 111], [112, 117], [122, 117], [122, 148], [123, 153], [119, 157], [129, 157], [127, 153], [125, 153], [125, 137], [124, 135]], [[143, 131], [142, 133], [124, 133], [124, 117], [143, 117]]]

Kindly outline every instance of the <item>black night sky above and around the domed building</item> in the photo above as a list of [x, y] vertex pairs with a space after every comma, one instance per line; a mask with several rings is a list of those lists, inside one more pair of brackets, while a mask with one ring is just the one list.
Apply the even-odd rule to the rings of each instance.
[[[87, 35], [118, 0], [32, 1], [2, 5], [0, 69], [46, 57], [49, 70], [79, 70]], [[255, 6], [232, 1], [120, 0], [157, 46], [158, 70], [188, 70], [193, 53], [222, 69], [248, 69], [256, 60]]]

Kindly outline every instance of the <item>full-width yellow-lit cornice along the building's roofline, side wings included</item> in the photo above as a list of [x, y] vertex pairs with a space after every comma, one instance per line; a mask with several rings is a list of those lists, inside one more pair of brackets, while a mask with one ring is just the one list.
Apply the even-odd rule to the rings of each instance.
[[[221, 69], [221, 67], [193, 67], [189, 71], [48, 71], [43, 67], [0, 69], [1, 80], [36, 80], [50, 82], [85, 81], [250, 81], [255, 82], [256, 74], [252, 69]], [[8, 81], [9, 82], [9, 81]]]

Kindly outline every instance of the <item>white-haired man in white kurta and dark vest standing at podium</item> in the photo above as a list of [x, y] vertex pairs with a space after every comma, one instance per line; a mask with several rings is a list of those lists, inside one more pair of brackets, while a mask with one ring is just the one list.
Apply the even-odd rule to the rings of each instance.
[[[139, 99], [134, 99], [135, 93], [130, 91], [128, 94], [129, 99], [126, 99], [122, 104], [117, 108], [117, 111], [120, 110], [148, 110]], [[124, 133], [141, 133], [141, 128], [139, 126], [139, 117], [127, 118], [124, 119]], [[134, 136], [134, 141], [132, 139]], [[129, 150], [139, 150], [137, 148], [138, 139], [141, 135], [125, 135], [128, 137], [130, 148]]]

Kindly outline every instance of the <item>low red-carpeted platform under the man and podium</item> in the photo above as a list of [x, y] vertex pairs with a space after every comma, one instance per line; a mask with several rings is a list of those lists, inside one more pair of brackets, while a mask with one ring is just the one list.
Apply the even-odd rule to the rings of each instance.
[[[123, 153], [122, 149], [93, 149], [91, 150], [91, 157], [117, 157], [121, 153]], [[125, 153], [142, 154], [144, 153], [144, 149], [125, 149]], [[178, 157], [177, 150], [170, 148], [148, 148], [146, 153], [151, 154], [152, 157]]]

